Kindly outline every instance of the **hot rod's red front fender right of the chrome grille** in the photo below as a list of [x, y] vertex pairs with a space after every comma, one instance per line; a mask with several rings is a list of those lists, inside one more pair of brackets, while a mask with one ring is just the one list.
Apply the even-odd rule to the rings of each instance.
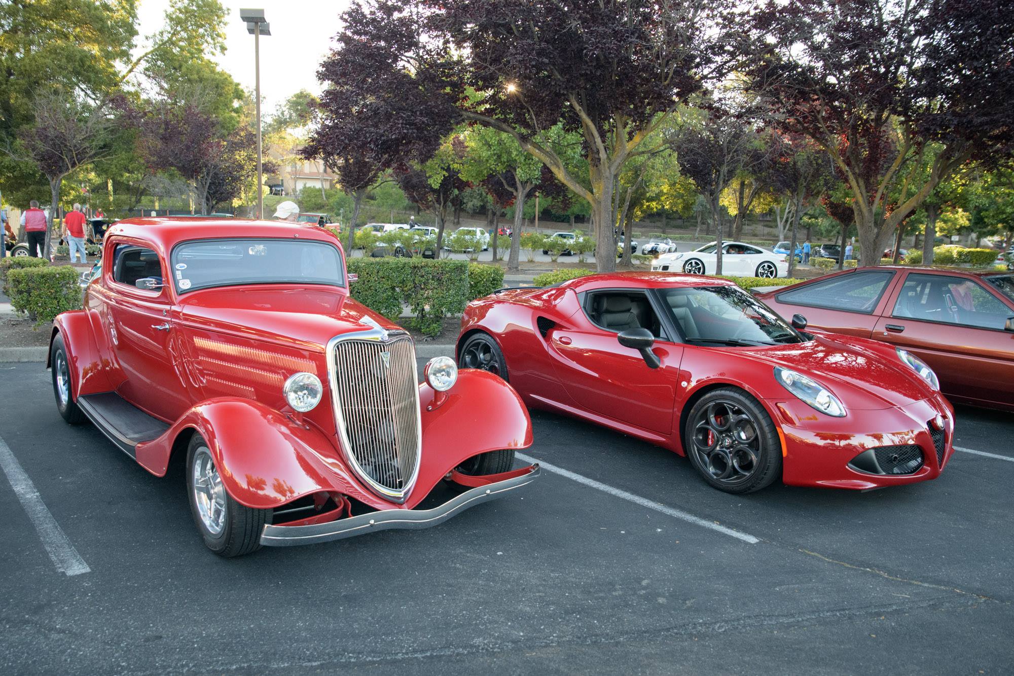
[[[448, 472], [489, 451], [531, 446], [531, 419], [510, 385], [485, 370], [463, 368], [446, 399], [434, 407], [436, 393], [419, 386], [423, 450], [419, 477], [406, 501], [418, 504]], [[432, 410], [431, 410], [432, 409]]]

